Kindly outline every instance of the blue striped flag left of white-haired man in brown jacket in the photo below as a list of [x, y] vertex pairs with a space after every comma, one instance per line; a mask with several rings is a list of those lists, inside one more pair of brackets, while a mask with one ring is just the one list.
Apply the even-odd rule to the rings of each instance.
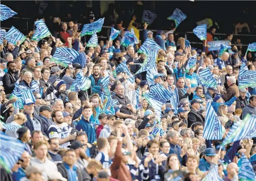
[[213, 74], [209, 67], [204, 68], [201, 72], [199, 72], [197, 81], [199, 85], [204, 87], [217, 87], [217, 81], [214, 79]]

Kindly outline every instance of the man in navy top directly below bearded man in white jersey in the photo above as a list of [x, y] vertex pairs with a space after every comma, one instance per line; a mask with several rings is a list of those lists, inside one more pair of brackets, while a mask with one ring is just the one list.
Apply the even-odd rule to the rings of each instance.
[[62, 158], [58, 151], [60, 151], [60, 143], [58, 138], [49, 139], [50, 147], [48, 149], [48, 153], [52, 158], [52, 161], [57, 165], [62, 163]]

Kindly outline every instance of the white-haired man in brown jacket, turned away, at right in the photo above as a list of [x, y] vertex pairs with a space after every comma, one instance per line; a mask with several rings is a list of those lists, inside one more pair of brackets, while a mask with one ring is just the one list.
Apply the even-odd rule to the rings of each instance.
[[224, 95], [223, 100], [225, 102], [229, 101], [233, 96], [239, 97], [239, 89], [236, 85], [236, 78], [234, 76], [228, 77], [228, 89], [227, 93]]

